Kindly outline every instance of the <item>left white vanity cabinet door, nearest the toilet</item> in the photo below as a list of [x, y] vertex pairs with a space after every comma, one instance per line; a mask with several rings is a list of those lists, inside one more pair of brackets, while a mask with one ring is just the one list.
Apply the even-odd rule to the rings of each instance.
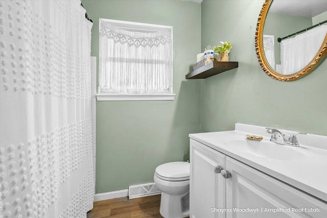
[[225, 168], [225, 157], [191, 139], [190, 217], [225, 217], [225, 213], [217, 211], [225, 208], [226, 180], [220, 173], [215, 173], [217, 166]]

